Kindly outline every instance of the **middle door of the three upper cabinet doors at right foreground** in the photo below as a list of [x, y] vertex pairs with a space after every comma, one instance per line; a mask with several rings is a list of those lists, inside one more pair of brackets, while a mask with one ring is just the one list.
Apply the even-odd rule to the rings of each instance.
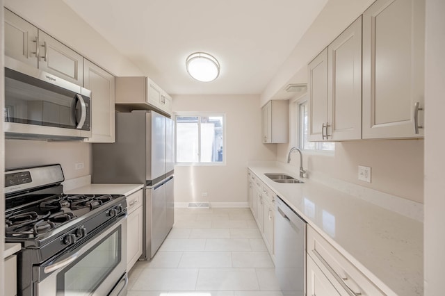
[[327, 61], [327, 140], [361, 139], [362, 17], [327, 47]]

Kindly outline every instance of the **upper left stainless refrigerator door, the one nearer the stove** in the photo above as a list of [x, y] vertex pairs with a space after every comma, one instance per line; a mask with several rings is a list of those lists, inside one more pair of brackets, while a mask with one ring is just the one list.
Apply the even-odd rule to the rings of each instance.
[[[151, 160], [151, 167], [147, 165], [147, 180], [156, 180], [165, 175], [165, 119], [156, 113], [147, 112], [147, 159]], [[150, 135], [151, 134], [151, 135]], [[151, 154], [150, 154], [151, 153]]]

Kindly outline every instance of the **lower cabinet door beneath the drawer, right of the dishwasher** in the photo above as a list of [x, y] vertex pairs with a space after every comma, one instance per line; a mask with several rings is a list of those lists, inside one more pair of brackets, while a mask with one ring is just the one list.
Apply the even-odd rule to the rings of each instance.
[[310, 256], [307, 256], [307, 295], [316, 296], [334, 296], [341, 295], [332, 286], [332, 283], [327, 279], [325, 274], [318, 268]]

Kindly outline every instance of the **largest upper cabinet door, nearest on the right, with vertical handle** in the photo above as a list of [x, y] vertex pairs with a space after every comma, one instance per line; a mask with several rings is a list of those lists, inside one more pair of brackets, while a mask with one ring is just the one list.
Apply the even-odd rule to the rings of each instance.
[[[378, 0], [363, 14], [363, 138], [423, 138], [424, 0]], [[419, 126], [423, 110], [419, 110]]]

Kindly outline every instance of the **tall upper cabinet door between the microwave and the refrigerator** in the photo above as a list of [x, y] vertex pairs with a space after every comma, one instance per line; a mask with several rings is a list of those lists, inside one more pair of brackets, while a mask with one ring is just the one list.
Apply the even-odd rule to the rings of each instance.
[[92, 137], [86, 142], [115, 142], [115, 77], [85, 60], [84, 87], [91, 90]]

